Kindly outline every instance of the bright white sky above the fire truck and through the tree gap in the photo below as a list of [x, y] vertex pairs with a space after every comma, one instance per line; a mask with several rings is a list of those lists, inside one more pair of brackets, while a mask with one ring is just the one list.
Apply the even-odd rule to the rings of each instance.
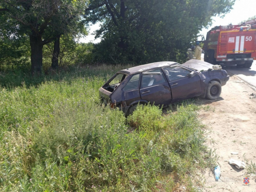
[[[204, 1], [202, 1], [204, 2]], [[204, 35], [206, 37], [206, 33], [214, 26], [220, 25], [228, 25], [232, 23], [233, 25], [239, 24], [243, 20], [247, 20], [249, 17], [253, 17], [256, 15], [256, 0], [236, 0], [233, 5], [233, 9], [225, 15], [224, 18], [220, 18], [220, 16], [213, 17], [212, 25], [208, 27], [208, 29], [202, 29], [199, 34]], [[100, 28], [100, 23], [96, 23], [90, 27], [89, 35], [85, 38], [81, 38], [79, 42], [82, 43], [98, 43], [101, 39], [94, 39], [94, 35], [92, 33]]]

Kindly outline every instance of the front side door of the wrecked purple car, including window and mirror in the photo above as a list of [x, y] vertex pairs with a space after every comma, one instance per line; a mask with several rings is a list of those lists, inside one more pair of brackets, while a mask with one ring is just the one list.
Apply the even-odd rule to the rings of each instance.
[[163, 68], [168, 76], [172, 92], [172, 103], [198, 96], [201, 93], [201, 79], [197, 73], [190, 76], [192, 70], [180, 65]]

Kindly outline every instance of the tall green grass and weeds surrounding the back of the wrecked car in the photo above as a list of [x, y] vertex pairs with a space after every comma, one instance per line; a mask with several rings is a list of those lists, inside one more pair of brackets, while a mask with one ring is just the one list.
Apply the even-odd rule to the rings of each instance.
[[126, 67], [2, 73], [0, 191], [197, 191], [195, 169], [214, 165], [200, 107], [139, 105], [126, 119], [101, 106], [98, 88]]

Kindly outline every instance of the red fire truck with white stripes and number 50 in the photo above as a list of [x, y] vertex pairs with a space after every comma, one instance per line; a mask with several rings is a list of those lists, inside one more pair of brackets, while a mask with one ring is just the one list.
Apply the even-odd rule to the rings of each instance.
[[203, 43], [204, 61], [250, 68], [256, 60], [256, 19], [216, 26], [208, 31]]

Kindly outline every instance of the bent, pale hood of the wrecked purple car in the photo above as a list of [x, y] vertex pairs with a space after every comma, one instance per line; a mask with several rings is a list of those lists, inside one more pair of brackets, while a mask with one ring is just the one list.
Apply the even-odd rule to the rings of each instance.
[[209, 71], [209, 70], [213, 70], [212, 68], [212, 64], [211, 63], [207, 63], [201, 60], [197, 60], [197, 59], [191, 59], [188, 60], [186, 63], [183, 63], [182, 65], [196, 70], [196, 71]]

